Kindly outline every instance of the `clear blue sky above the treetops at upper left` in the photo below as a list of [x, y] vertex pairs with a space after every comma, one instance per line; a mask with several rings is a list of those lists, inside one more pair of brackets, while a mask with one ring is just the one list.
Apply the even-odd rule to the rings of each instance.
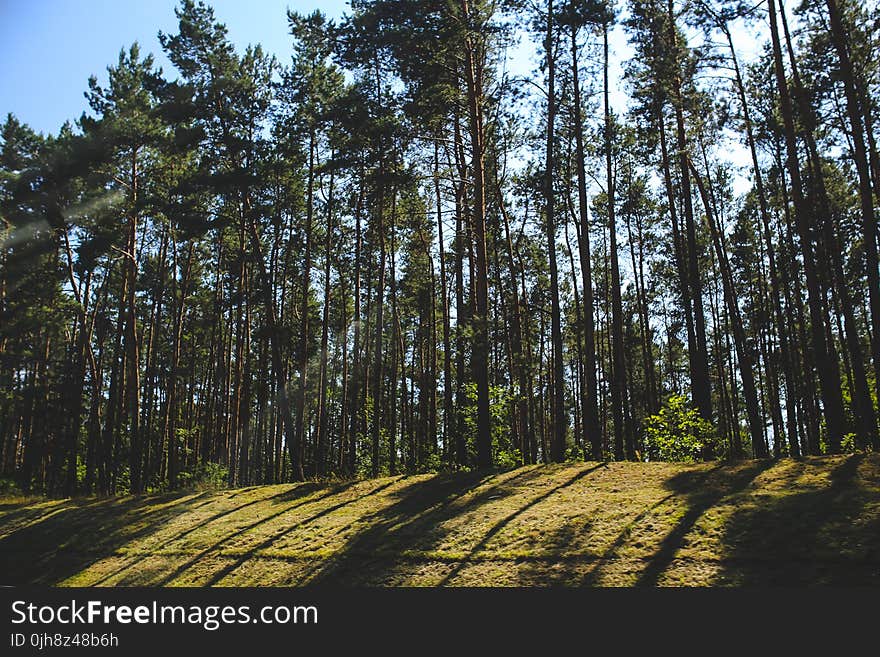
[[[210, 0], [241, 49], [260, 43], [287, 62], [286, 11], [316, 8], [338, 17], [344, 0]], [[134, 41], [169, 77], [173, 66], [157, 34], [175, 33], [177, 0], [0, 0], [0, 121], [8, 112], [35, 130], [55, 133], [87, 105], [90, 75], [106, 79], [119, 51]]]

